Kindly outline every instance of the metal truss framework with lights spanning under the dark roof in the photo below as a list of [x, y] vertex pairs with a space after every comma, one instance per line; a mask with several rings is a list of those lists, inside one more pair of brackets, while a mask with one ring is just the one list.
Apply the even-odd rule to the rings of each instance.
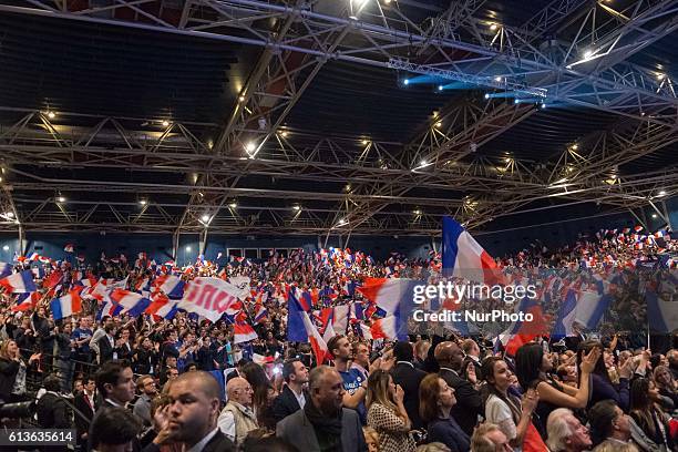
[[[442, 215], [479, 228], [502, 215], [533, 212], [535, 201], [553, 201], [538, 209], [595, 201], [617, 212], [657, 208], [655, 201], [678, 193], [675, 171], [618, 171], [678, 141], [670, 75], [629, 62], [678, 30], [678, 0], [639, 0], [625, 10], [604, 1], [554, 0], [516, 28], [477, 19], [482, 0], [451, 2], [424, 23], [408, 17], [407, 1], [401, 8], [397, 1], [184, 0], [173, 6], [181, 11], [172, 16], [176, 20], [162, 8], [146, 8], [155, 1], [84, 2], [73, 10], [63, 0], [0, 0], [6, 12], [260, 49], [225, 124], [158, 127], [154, 119], [73, 112], [79, 125], [70, 126], [68, 112], [56, 122], [45, 112], [11, 109], [16, 122], [0, 129], [3, 171], [11, 176], [2, 182], [0, 229], [162, 232], [174, 234], [176, 244], [179, 234], [206, 238], [207, 230], [436, 235]], [[574, 30], [567, 39], [561, 37], [565, 29]], [[284, 127], [331, 61], [489, 91], [486, 99], [455, 99], [422, 119], [409, 143]], [[540, 107], [558, 105], [619, 121], [548, 162], [479, 152]], [[88, 168], [165, 174], [173, 182], [73, 176]], [[61, 203], [60, 192], [101, 196]], [[175, 198], [167, 199], [168, 193]], [[105, 201], [106, 194], [119, 196]]]

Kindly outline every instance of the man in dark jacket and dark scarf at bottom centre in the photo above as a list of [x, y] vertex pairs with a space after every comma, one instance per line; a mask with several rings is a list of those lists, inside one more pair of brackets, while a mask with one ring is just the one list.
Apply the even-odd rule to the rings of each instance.
[[343, 379], [328, 366], [309, 373], [310, 400], [276, 428], [276, 436], [304, 452], [367, 452], [360, 418], [343, 408]]

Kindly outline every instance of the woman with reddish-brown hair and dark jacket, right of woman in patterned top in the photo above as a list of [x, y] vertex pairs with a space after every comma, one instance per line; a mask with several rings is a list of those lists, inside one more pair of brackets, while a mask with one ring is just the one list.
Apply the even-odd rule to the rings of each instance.
[[456, 403], [454, 390], [436, 373], [428, 374], [419, 387], [419, 410], [428, 425], [428, 439], [441, 442], [452, 452], [465, 452], [470, 448], [469, 435], [450, 414]]

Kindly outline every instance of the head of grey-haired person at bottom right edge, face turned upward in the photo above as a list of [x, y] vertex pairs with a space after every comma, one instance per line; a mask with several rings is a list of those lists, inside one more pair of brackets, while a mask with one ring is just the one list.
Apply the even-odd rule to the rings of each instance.
[[592, 445], [588, 429], [566, 408], [552, 411], [546, 431], [549, 452], [583, 452]]

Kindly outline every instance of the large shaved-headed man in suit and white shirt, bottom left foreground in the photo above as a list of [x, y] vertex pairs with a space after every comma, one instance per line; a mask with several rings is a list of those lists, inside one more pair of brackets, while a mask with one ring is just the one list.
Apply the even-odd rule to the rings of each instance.
[[207, 372], [186, 372], [170, 384], [170, 405], [156, 418], [161, 430], [144, 452], [161, 445], [183, 444], [187, 452], [235, 451], [235, 444], [217, 427], [220, 388]]

